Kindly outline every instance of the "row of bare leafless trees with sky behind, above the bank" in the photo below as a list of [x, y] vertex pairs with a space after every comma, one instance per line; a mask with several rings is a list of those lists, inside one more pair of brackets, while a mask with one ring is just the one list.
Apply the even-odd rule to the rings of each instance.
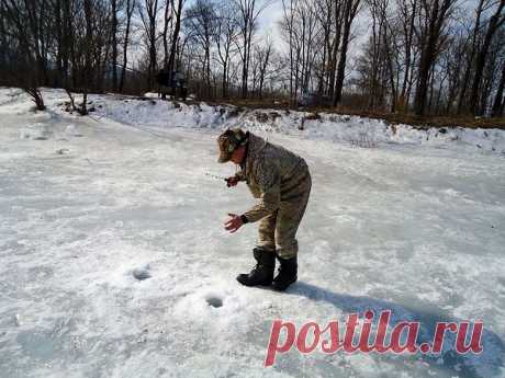
[[276, 38], [273, 2], [0, 0], [0, 80], [139, 93], [165, 69], [201, 99], [504, 115], [504, 0], [277, 0]]

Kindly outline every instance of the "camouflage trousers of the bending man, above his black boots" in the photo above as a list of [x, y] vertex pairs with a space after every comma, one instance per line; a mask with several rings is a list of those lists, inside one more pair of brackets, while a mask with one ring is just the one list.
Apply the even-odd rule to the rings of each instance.
[[277, 251], [283, 259], [296, 256], [299, 251], [296, 231], [305, 214], [311, 187], [312, 180], [307, 170], [303, 180], [290, 191], [289, 195], [285, 195], [285, 201], [281, 195], [279, 208], [260, 220], [258, 247]]

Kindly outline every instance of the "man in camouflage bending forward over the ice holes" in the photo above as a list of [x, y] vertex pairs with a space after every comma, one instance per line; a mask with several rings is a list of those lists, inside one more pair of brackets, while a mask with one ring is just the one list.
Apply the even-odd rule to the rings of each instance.
[[[227, 179], [228, 186], [245, 181], [258, 203], [250, 210], [231, 219], [225, 229], [231, 233], [245, 224], [259, 221], [258, 243], [252, 250], [257, 262], [237, 280], [246, 286], [269, 286], [284, 290], [296, 280], [296, 230], [311, 194], [308, 167], [298, 154], [239, 128], [227, 129], [217, 138], [220, 163], [231, 161], [240, 171]], [[279, 273], [273, 278], [276, 256]]]

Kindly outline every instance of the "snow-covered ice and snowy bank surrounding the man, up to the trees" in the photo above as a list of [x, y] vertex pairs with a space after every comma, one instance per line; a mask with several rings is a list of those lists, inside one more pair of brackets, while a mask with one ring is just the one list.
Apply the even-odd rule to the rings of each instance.
[[[0, 376], [503, 377], [505, 138], [356, 117], [92, 95], [89, 117], [0, 89]], [[260, 112], [261, 113], [261, 112]], [[334, 118], [332, 118], [334, 117]], [[254, 201], [206, 172], [242, 123], [302, 154], [313, 192], [299, 282], [244, 288]], [[373, 145], [359, 148], [356, 145]], [[476, 146], [479, 145], [479, 146]], [[302, 324], [392, 309], [394, 320], [482, 320], [483, 353], [278, 355], [273, 319]]]

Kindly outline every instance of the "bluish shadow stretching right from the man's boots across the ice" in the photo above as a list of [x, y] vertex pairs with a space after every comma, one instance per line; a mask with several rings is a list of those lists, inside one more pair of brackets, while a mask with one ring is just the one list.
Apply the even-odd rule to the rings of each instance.
[[[373, 323], [375, 327], [380, 312], [391, 310], [390, 325], [392, 327], [401, 321], [420, 322], [417, 345], [425, 342], [433, 343], [437, 322], [454, 322], [458, 324], [460, 321], [444, 314], [441, 310], [414, 309], [372, 297], [337, 294], [300, 280], [291, 286], [287, 294], [332, 303], [346, 313], [359, 313], [361, 319], [364, 311], [373, 310], [375, 314]], [[469, 333], [471, 333], [471, 330], [472, 327], [469, 328]], [[471, 352], [464, 355], [458, 354], [454, 350], [454, 340], [456, 334], [447, 331], [440, 354], [419, 353], [419, 355], [434, 367], [450, 370], [450, 373], [460, 378], [491, 378], [501, 376], [504, 367], [505, 344], [498, 335], [486, 330], [485, 322], [481, 340], [483, 347], [481, 354], [476, 355]], [[442, 362], [440, 358], [442, 358]]]

